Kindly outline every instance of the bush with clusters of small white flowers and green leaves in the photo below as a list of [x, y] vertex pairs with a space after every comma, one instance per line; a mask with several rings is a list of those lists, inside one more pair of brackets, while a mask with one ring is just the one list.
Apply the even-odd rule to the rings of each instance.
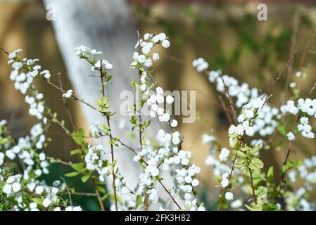
[[[101, 58], [100, 51], [86, 46], [75, 49], [77, 56], [89, 63], [95, 77], [100, 79], [101, 94], [94, 103], [77, 98], [71, 89], [63, 89], [61, 82], [53, 84], [50, 72], [42, 70], [38, 59], [21, 58], [21, 49], [12, 53], [4, 51], [8, 55], [8, 64], [13, 68], [10, 79], [15, 89], [25, 95], [25, 103], [30, 106], [29, 114], [36, 117], [38, 123], [30, 129], [29, 135], [15, 139], [7, 122], [0, 122], [0, 210], [82, 210], [72, 204], [71, 195], [97, 198], [100, 210], [105, 210], [106, 199], [112, 203], [111, 210], [148, 210], [152, 204], [158, 204], [160, 210], [206, 210], [197, 189], [200, 183], [197, 176], [201, 169], [190, 162], [191, 152], [182, 149], [184, 136], [177, 131], [178, 122], [166, 108], [167, 104], [174, 103], [175, 98], [165, 96], [163, 88], [153, 77], [151, 68], [160, 59], [160, 54], [153, 49], [158, 45], [169, 48], [166, 34], [144, 34], [137, 41], [130, 65], [139, 72], [139, 78], [131, 84], [140, 96], [139, 102], [129, 105], [134, 112], [130, 117], [132, 131], [139, 136], [137, 148], [123, 143], [118, 134], [112, 132], [110, 122], [115, 112], [110, 110], [106, 86], [115, 76], [110, 73], [113, 65]], [[272, 96], [270, 92], [282, 72], [267, 91], [261, 92], [246, 83], [239, 84], [234, 77], [222, 75], [220, 70], [208, 70], [209, 65], [203, 58], [194, 60], [192, 65], [208, 76], [221, 96], [226, 98], [220, 97], [220, 104], [231, 124], [227, 127], [229, 143], [219, 143], [215, 134], [203, 134], [203, 143], [210, 146], [206, 165], [213, 167], [217, 180], [215, 188], [220, 193], [218, 210], [315, 210], [312, 200], [316, 197], [316, 157], [290, 160], [291, 150], [299, 136], [306, 139], [315, 137], [309, 123], [312, 117], [316, 117], [316, 99], [310, 98], [315, 86], [306, 98], [300, 98], [298, 85], [292, 82], [293, 96], [285, 105], [272, 107], [268, 103]], [[296, 77], [298, 81], [303, 79], [304, 72], [297, 72]], [[34, 85], [37, 81], [61, 91], [67, 109], [67, 101], [80, 101], [99, 112], [105, 123], [94, 122], [89, 132], [76, 129], [74, 125], [68, 129], [65, 119], [59, 118], [45, 104], [44, 95]], [[148, 120], [141, 116], [145, 106], [149, 108], [151, 117]], [[72, 121], [69, 110], [68, 115], [68, 120]], [[159, 129], [156, 136], [151, 137], [146, 129], [156, 117], [166, 128]], [[65, 135], [75, 141], [78, 147], [69, 153], [78, 155], [81, 162], [65, 162], [46, 155], [46, 146], [53, 142], [46, 134], [49, 124], [58, 124]], [[106, 146], [110, 152], [103, 145], [96, 146], [93, 141], [87, 141], [103, 136], [108, 137]], [[118, 146], [132, 151], [134, 162], [131, 163], [141, 166], [136, 187], [130, 187], [120, 174], [115, 159]], [[282, 171], [267, 168], [260, 160], [261, 152], [284, 146], [287, 147]], [[77, 187], [68, 186], [63, 179], [47, 184], [41, 177], [49, 174], [51, 164], [70, 167], [72, 172], [65, 176], [80, 176], [82, 185], [91, 180], [95, 193], [77, 192]], [[163, 171], [172, 176], [171, 187], [163, 184]], [[274, 174], [281, 174], [281, 178], [277, 179]], [[303, 182], [296, 182], [297, 179]], [[108, 188], [105, 188], [105, 181], [111, 182]], [[158, 186], [168, 195], [172, 206], [160, 199]]]

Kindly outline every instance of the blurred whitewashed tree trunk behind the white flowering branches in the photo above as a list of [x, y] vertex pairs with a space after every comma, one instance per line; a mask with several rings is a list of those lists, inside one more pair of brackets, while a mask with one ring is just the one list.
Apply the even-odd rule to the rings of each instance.
[[[75, 47], [83, 44], [102, 51], [103, 58], [113, 64], [111, 70], [113, 80], [112, 84], [107, 86], [106, 94], [110, 96], [112, 110], [119, 112], [120, 92], [132, 90], [130, 81], [137, 79], [137, 71], [129, 68], [134, 46], [137, 43], [137, 33], [127, 2], [125, 0], [44, 0], [44, 4], [48, 13], [53, 15], [51, 23], [75, 94], [89, 102], [100, 98], [101, 95], [98, 91], [101, 86], [99, 79], [89, 77], [91, 66], [80, 60], [74, 52]], [[99, 113], [84, 105], [82, 110], [88, 124], [105, 120]], [[117, 113], [111, 120], [113, 134], [133, 145], [124, 137], [126, 132], [119, 128], [122, 120], [126, 121], [127, 127], [129, 126], [129, 116]], [[158, 126], [155, 124], [153, 123], [149, 129], [158, 131]], [[105, 140], [99, 142], [99, 144], [104, 143]], [[141, 172], [141, 168], [133, 162], [133, 156], [126, 148], [115, 149], [115, 159], [118, 159], [120, 172], [131, 187], [137, 185]], [[165, 183], [168, 185], [168, 179]]]

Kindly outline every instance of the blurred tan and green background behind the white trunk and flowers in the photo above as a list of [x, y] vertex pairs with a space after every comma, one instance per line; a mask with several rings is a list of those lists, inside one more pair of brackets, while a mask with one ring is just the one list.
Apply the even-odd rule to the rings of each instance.
[[[286, 79], [299, 70], [308, 71], [308, 77], [301, 87], [302, 96], [306, 96], [316, 81], [316, 2], [129, 0], [127, 3], [141, 34], [165, 32], [170, 37], [172, 46], [164, 50], [155, 66], [158, 83], [165, 90], [196, 91], [196, 122], [181, 124], [179, 129], [185, 136], [184, 148], [192, 151], [193, 161], [202, 168], [200, 179], [206, 193], [210, 190], [208, 198], [211, 199], [212, 195], [216, 195], [213, 173], [204, 165], [209, 150], [208, 146], [201, 143], [201, 137], [213, 129], [222, 143], [228, 143], [226, 134], [229, 124], [225, 113], [215, 103], [217, 93], [214, 86], [207, 77], [192, 68], [191, 61], [201, 56], [210, 63], [211, 69], [221, 69], [239, 82], [265, 89], [296, 49], [293, 65], [284, 72], [272, 90], [274, 98], [271, 104], [279, 106], [283, 103], [284, 94], [281, 90], [288, 84]], [[267, 21], [257, 19], [257, 6], [260, 3], [267, 4]], [[43, 68], [49, 69], [52, 75], [58, 72], [66, 75], [42, 1], [0, 0], [0, 15], [1, 47], [6, 51], [21, 48], [27, 58], [39, 58]], [[1, 53], [0, 119], [10, 120], [11, 132], [18, 137], [27, 134], [35, 120], [28, 116], [23, 96], [15, 91], [13, 82], [8, 79], [11, 70], [6, 62], [6, 56]], [[72, 86], [67, 76], [63, 76], [63, 86], [67, 89]], [[38, 87], [46, 96], [46, 104], [61, 117], [66, 117], [59, 99], [60, 93], [49, 86], [39, 84]], [[76, 124], [87, 127], [79, 106], [70, 102], [70, 108]], [[49, 146], [49, 154], [68, 160], [68, 150], [75, 146], [72, 140], [58, 132], [56, 127], [50, 134], [58, 142]], [[315, 141], [305, 144], [301, 147], [303, 151], [294, 152], [293, 158], [299, 157], [302, 152], [307, 156], [316, 153]], [[267, 165], [279, 165], [278, 168], [283, 155], [278, 151], [270, 151], [263, 153], [263, 159]], [[54, 167], [49, 179], [64, 170]], [[83, 197], [77, 200], [86, 205], [96, 205], [94, 200], [84, 200]]]

